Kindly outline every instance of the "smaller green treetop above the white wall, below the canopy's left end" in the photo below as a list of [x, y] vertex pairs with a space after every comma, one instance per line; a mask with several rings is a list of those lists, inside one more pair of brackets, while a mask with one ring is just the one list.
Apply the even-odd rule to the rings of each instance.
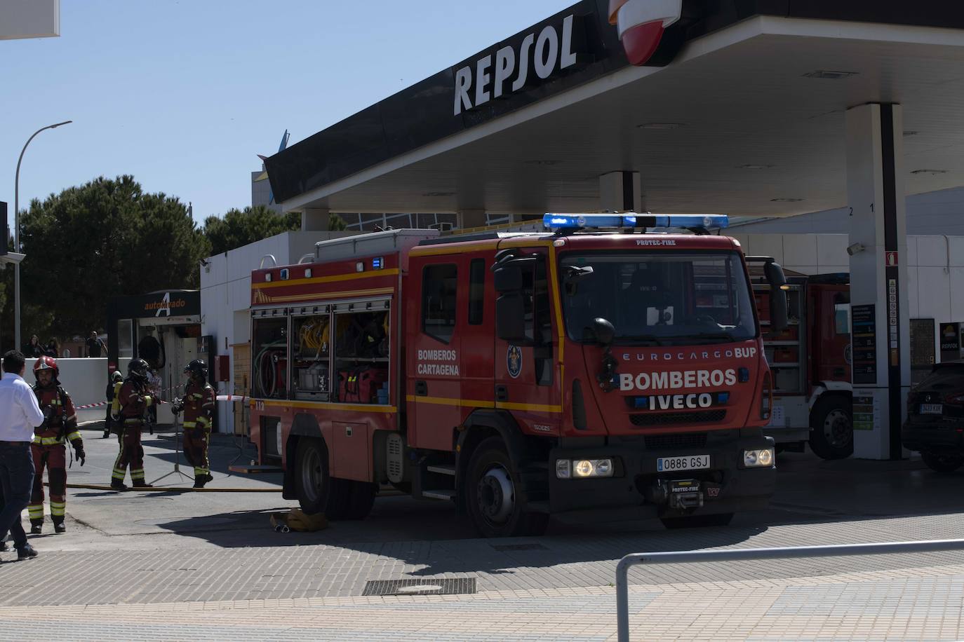
[[[211, 255], [214, 255], [300, 229], [301, 214], [277, 214], [264, 205], [255, 205], [243, 210], [229, 210], [224, 217], [205, 218], [203, 234], [211, 244]], [[345, 222], [336, 214], [330, 215], [329, 229], [343, 230]]]

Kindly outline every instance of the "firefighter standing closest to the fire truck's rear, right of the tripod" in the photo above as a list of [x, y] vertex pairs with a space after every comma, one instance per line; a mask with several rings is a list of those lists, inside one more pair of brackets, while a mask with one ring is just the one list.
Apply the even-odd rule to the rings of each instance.
[[195, 359], [187, 365], [184, 397], [174, 399], [174, 412], [184, 411], [184, 457], [194, 466], [194, 487], [203, 488], [213, 479], [207, 461], [207, 444], [214, 419], [214, 388], [207, 383], [207, 364]]

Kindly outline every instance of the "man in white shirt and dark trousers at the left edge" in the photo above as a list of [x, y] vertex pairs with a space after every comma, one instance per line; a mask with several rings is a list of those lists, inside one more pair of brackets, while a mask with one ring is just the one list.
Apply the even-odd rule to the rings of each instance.
[[[34, 485], [34, 457], [30, 442], [34, 428], [43, 424], [37, 396], [23, 380], [26, 362], [17, 350], [3, 355], [3, 378], [0, 378], [0, 542], [13, 534], [17, 559], [36, 557], [27, 543], [20, 524], [20, 513], [30, 503]], [[6, 547], [0, 547], [0, 551]]]

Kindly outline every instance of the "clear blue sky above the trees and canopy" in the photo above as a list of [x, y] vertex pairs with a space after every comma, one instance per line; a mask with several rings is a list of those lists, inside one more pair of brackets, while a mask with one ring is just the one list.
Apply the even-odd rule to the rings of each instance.
[[133, 174], [200, 222], [251, 204], [278, 149], [575, 0], [61, 0], [61, 36], [0, 40], [0, 200]]

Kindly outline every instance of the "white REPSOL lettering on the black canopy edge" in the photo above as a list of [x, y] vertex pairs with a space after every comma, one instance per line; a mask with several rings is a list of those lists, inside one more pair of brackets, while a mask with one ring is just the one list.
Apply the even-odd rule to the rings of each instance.
[[566, 15], [455, 71], [455, 116], [540, 85], [585, 60], [581, 16]]

